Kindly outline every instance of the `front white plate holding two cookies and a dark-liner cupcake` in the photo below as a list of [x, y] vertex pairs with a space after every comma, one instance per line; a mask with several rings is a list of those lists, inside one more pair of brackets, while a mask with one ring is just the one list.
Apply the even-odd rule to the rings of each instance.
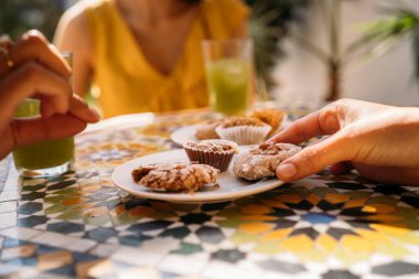
[[[245, 149], [247, 148], [240, 148], [240, 152]], [[233, 158], [233, 160], [235, 160], [235, 158]], [[282, 181], [275, 178], [254, 182], [238, 179], [233, 173], [233, 162], [227, 171], [218, 174], [217, 182], [219, 184], [219, 187], [212, 189], [211, 191], [200, 191], [192, 194], [155, 192], [133, 182], [131, 178], [131, 172], [133, 169], [138, 168], [141, 164], [155, 162], [189, 162], [189, 160], [183, 149], [160, 152], [133, 159], [115, 169], [112, 173], [112, 181], [118, 187], [139, 197], [187, 204], [218, 203], [232, 201], [239, 197], [265, 192], [283, 184]]]

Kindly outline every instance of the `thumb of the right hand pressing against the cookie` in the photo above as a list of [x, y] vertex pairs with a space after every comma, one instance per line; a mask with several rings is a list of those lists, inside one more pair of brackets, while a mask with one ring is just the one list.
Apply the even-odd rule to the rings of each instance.
[[354, 153], [354, 144], [337, 132], [283, 161], [277, 168], [277, 176], [283, 181], [302, 179], [333, 163], [350, 161]]

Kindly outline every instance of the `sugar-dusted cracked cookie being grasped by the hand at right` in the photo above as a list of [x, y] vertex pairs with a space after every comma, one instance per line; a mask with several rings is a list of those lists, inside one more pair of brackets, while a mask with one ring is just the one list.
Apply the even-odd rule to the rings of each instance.
[[247, 151], [234, 162], [234, 173], [246, 180], [259, 180], [276, 176], [277, 167], [301, 150], [290, 143], [264, 142]]

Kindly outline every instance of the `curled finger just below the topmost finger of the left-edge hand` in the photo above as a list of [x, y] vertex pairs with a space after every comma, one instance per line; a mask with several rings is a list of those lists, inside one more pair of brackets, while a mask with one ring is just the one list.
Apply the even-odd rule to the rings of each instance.
[[49, 98], [53, 114], [65, 114], [72, 96], [67, 78], [49, 71], [35, 62], [29, 62], [0, 79], [1, 117], [8, 119], [24, 98]]

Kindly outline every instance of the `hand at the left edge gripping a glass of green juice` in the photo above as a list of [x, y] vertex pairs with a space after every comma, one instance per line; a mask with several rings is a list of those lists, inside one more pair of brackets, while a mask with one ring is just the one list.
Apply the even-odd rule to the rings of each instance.
[[[40, 32], [29, 31], [14, 44], [2, 40], [0, 159], [17, 147], [73, 136], [87, 122], [99, 120], [97, 112], [73, 94], [68, 64]], [[41, 99], [42, 117], [13, 120], [18, 105], [28, 97]]]

